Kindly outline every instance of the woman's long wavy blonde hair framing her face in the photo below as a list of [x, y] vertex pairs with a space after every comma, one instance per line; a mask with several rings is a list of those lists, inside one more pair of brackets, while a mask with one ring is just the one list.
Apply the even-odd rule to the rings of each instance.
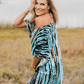
[[[35, 8], [34, 8], [35, 2], [36, 2], [36, 0], [31, 0], [30, 13], [32, 14], [32, 16], [31, 16], [30, 20], [28, 20], [31, 23], [32, 28], [35, 25], [35, 18], [37, 17], [35, 14]], [[54, 4], [53, 0], [47, 0], [47, 3], [48, 3], [48, 6], [50, 7], [49, 13], [52, 14], [54, 23], [56, 25], [56, 23], [58, 22], [58, 13], [57, 13], [57, 9], [55, 7], [55, 4]]]

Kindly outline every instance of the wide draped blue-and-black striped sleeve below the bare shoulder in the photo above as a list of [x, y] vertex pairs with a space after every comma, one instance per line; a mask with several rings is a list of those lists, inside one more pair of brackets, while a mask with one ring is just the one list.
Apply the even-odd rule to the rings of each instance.
[[46, 27], [42, 27], [39, 29], [36, 35], [35, 43], [35, 57], [38, 58], [50, 58], [50, 51], [49, 51], [49, 39], [50, 33], [49, 29]]

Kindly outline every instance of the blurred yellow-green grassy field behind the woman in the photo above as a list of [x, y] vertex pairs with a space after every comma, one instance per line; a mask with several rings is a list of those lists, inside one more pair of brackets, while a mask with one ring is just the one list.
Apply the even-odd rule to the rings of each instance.
[[[57, 29], [63, 84], [84, 84], [84, 28]], [[0, 24], [0, 84], [26, 84], [34, 73], [26, 28]]]

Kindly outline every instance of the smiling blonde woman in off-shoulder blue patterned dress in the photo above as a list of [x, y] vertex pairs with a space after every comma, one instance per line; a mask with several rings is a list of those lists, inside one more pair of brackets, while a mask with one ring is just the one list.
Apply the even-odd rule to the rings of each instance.
[[[23, 20], [28, 13], [30, 20]], [[32, 0], [31, 7], [21, 13], [13, 22], [15, 27], [29, 31], [35, 69], [28, 84], [62, 84], [63, 65], [59, 40], [55, 28], [57, 10], [52, 0]]]

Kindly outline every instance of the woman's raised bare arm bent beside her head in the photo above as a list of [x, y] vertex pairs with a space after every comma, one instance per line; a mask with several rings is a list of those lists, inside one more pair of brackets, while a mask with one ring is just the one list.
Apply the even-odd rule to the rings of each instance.
[[29, 13], [29, 10], [30, 10], [30, 7], [28, 7], [28, 8], [25, 10], [25, 12], [21, 13], [21, 14], [14, 20], [14, 22], [12, 23], [12, 25], [13, 25], [14, 27], [17, 27], [17, 28], [19, 28], [19, 27], [25, 27], [26, 24], [25, 24], [25, 22], [24, 22], [23, 19], [24, 19], [25, 16]]

